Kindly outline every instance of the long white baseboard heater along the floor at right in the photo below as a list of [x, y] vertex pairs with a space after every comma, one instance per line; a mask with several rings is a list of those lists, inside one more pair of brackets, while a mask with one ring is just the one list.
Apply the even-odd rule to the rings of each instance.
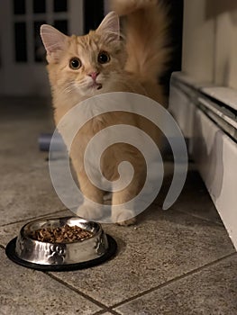
[[[222, 119], [222, 115], [215, 114], [220, 102], [217, 102], [215, 110], [212, 111], [214, 98], [210, 98], [209, 105], [209, 95], [204, 93], [205, 89], [205, 85], [198, 85], [181, 73], [174, 74], [170, 86], [169, 111], [178, 121], [184, 136], [189, 139], [189, 154], [196, 161], [200, 175], [237, 249], [235, 106], [228, 107], [230, 103], [227, 104], [227, 107], [223, 108]], [[208, 91], [211, 94], [212, 87], [209, 86]], [[199, 102], [200, 97], [205, 99], [207, 107], [210, 106], [208, 110], [211, 114], [208, 114]], [[237, 104], [237, 98], [236, 103], [233, 99], [232, 103]], [[222, 106], [220, 109], [222, 110]]]

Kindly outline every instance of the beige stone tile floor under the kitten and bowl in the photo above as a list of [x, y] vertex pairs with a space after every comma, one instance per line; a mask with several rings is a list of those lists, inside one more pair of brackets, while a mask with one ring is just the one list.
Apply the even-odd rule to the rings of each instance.
[[0, 314], [236, 315], [237, 254], [194, 165], [169, 211], [161, 192], [135, 227], [104, 225], [118, 243], [104, 265], [42, 273], [5, 256], [25, 222], [68, 214], [37, 144], [53, 130], [47, 103], [0, 100]]

